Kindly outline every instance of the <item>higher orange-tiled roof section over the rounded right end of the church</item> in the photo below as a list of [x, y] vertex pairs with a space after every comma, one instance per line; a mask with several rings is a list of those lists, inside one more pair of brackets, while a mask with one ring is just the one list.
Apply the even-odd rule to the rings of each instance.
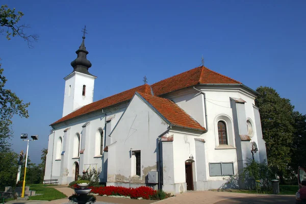
[[197, 84], [242, 84], [205, 66], [174, 75], [151, 85], [154, 95], [162, 95]]

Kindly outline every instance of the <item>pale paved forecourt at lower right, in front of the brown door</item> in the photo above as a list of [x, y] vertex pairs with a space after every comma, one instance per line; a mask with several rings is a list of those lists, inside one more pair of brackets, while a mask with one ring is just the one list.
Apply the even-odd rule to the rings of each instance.
[[295, 203], [294, 195], [259, 195], [247, 193], [230, 193], [214, 191], [191, 191], [177, 194], [175, 197], [156, 202], [156, 204], [174, 203]]

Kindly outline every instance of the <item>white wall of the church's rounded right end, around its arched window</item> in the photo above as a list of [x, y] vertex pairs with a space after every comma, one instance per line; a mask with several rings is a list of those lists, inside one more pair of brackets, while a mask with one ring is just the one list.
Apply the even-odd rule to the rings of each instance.
[[[230, 97], [234, 98], [242, 98], [246, 101], [245, 103], [245, 116], [247, 119], [252, 122], [255, 121], [254, 113], [252, 105], [254, 104], [254, 96], [246, 92], [241, 88], [227, 88], [227, 87], [214, 87], [214, 86], [200, 86], [196, 87], [200, 89], [202, 92], [206, 93], [206, 108], [207, 108], [207, 116], [208, 116], [208, 132], [202, 134], [200, 138], [205, 139], [206, 141], [206, 168], [207, 168], [207, 184], [206, 189], [220, 187], [224, 183], [224, 176], [210, 176], [209, 164], [210, 163], [218, 163], [218, 162], [233, 162], [234, 173], [238, 172], [237, 166], [237, 156], [236, 156], [236, 145], [235, 145], [235, 132], [234, 132], [234, 124], [233, 124], [233, 112], [230, 104]], [[193, 118], [202, 117], [202, 124], [205, 124], [205, 108], [204, 108], [204, 97], [201, 93], [195, 93], [192, 88], [184, 89], [181, 91], [176, 91], [171, 94], [166, 95], [167, 98], [175, 101], [177, 105], [179, 105], [183, 110], [185, 110], [188, 114], [190, 114]], [[184, 94], [186, 94], [186, 99], [184, 99]], [[192, 98], [191, 96], [194, 96]], [[202, 96], [201, 106], [199, 104], [200, 96]], [[192, 110], [192, 111], [190, 111]], [[197, 110], [198, 112], [196, 112]], [[201, 116], [202, 115], [202, 116]], [[218, 141], [218, 128], [217, 122], [218, 120], [224, 120], [227, 125], [227, 141], [230, 145], [219, 145]], [[201, 119], [197, 119], [197, 121], [201, 121]], [[200, 122], [201, 123], [201, 122]], [[206, 127], [206, 125], [204, 125]], [[246, 121], [245, 121], [246, 126]], [[253, 130], [256, 127], [253, 127]], [[257, 133], [254, 131], [253, 141], [257, 142]], [[173, 141], [175, 143], [175, 140]], [[173, 147], [176, 148], [176, 147]], [[244, 145], [243, 151], [248, 151], [247, 147]], [[175, 151], [174, 151], [175, 152]], [[174, 153], [175, 155], [175, 153]], [[248, 155], [249, 157], [249, 155]], [[184, 175], [180, 170], [176, 174]], [[182, 179], [182, 176], [179, 176]], [[175, 176], [176, 178], [179, 178]], [[175, 181], [176, 183], [176, 181]]]

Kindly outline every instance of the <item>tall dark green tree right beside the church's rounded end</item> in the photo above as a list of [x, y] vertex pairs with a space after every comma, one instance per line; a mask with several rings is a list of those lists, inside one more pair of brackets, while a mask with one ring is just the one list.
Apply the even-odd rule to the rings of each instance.
[[266, 141], [268, 164], [281, 177], [291, 161], [294, 117], [290, 100], [282, 98], [270, 87], [259, 87], [259, 107], [263, 138]]

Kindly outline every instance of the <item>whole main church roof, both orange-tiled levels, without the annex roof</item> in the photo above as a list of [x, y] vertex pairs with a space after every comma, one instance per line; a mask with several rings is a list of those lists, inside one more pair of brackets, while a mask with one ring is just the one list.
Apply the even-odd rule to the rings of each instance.
[[130, 100], [136, 91], [151, 94], [152, 88], [154, 95], [162, 95], [171, 91], [179, 90], [189, 86], [194, 86], [197, 84], [241, 84], [241, 82], [238, 82], [215, 71], [212, 71], [206, 68], [205, 66], [199, 66], [189, 71], [185, 71], [183, 73], [174, 75], [173, 77], [157, 82], [151, 85], [151, 87], [145, 84], [98, 100], [62, 117], [51, 125], [87, 113], [91, 113], [121, 103], [126, 100]]

